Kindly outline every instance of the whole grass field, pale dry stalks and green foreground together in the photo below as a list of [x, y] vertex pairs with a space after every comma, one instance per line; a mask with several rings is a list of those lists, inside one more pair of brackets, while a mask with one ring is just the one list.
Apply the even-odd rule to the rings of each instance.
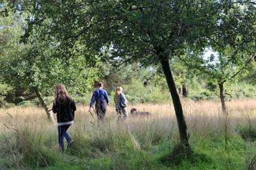
[[106, 122], [99, 126], [88, 107], [78, 106], [76, 122], [68, 130], [74, 145], [63, 154], [57, 127], [47, 121], [42, 108], [0, 109], [0, 169], [256, 168], [256, 100], [227, 102], [228, 117], [218, 101], [182, 104], [193, 154], [175, 159], [170, 153], [179, 134], [168, 104], [129, 106], [152, 115], [129, 117], [127, 122], [117, 122], [109, 108]]

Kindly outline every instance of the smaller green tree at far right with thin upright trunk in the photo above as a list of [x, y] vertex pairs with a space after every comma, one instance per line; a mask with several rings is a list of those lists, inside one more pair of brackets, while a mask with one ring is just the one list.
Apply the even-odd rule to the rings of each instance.
[[225, 82], [238, 78], [256, 55], [255, 4], [230, 3], [227, 9], [232, 10], [220, 13], [216, 32], [207, 36], [212, 54], [190, 53], [191, 57], [181, 57], [187, 60], [186, 66], [202, 71], [209, 81], [218, 84], [223, 113], [227, 113]]

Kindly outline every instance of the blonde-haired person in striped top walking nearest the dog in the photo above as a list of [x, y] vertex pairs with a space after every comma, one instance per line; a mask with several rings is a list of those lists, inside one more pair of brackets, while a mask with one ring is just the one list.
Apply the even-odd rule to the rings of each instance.
[[116, 87], [114, 101], [116, 112], [118, 113], [118, 120], [120, 120], [120, 118], [124, 118], [126, 120], [128, 118], [127, 99], [123, 93], [122, 87]]

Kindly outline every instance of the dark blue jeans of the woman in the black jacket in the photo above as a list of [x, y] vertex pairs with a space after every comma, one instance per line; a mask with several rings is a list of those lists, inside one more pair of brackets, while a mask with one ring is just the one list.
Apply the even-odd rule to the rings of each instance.
[[70, 127], [70, 125], [59, 125], [58, 126], [59, 145], [60, 145], [61, 152], [63, 152], [63, 150], [64, 150], [64, 137], [67, 139], [68, 144], [70, 144], [72, 142], [72, 138], [71, 138], [70, 134], [67, 132], [68, 127]]

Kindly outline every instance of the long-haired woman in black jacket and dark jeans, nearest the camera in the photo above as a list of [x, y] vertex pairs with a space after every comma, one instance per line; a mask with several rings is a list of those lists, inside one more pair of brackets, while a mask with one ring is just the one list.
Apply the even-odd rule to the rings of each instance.
[[76, 104], [69, 96], [65, 86], [62, 84], [56, 85], [52, 112], [57, 113], [58, 140], [61, 152], [64, 150], [64, 138], [68, 141], [68, 148], [72, 144], [72, 138], [67, 130], [74, 123], [75, 111]]

